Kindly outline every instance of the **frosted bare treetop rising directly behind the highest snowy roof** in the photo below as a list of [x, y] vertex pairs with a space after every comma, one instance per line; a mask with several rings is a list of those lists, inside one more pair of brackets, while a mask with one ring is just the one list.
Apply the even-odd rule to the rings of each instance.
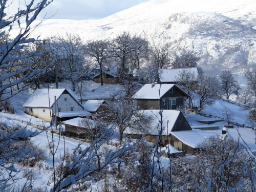
[[182, 52], [180, 56], [176, 55], [172, 67], [173, 68], [194, 68], [197, 67], [197, 62], [200, 60], [199, 57], [195, 56], [193, 51]]

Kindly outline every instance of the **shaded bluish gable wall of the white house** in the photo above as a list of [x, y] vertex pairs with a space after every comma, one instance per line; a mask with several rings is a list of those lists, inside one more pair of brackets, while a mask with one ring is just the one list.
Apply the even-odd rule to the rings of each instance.
[[[65, 98], [67, 98], [67, 101], [65, 101]], [[60, 97], [56, 100], [57, 104], [57, 112], [58, 109], [60, 109], [60, 112], [66, 112], [71, 111], [71, 108], [73, 108], [73, 111], [83, 111], [83, 108], [81, 105], [79, 105], [71, 96], [70, 94], [63, 93], [60, 95]], [[53, 113], [55, 113], [55, 106], [52, 106]]]

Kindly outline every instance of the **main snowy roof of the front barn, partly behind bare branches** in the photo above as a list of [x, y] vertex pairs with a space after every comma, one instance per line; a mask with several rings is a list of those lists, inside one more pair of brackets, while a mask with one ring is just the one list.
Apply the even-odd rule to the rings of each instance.
[[[141, 134], [141, 135], [158, 135], [158, 129], [157, 127], [160, 127], [160, 123], [159, 120], [161, 120], [160, 117], [160, 110], [140, 110], [141, 113], [145, 113], [145, 115], [151, 116], [152, 117], [152, 121], [150, 124], [151, 129], [148, 130], [146, 133], [138, 133], [138, 131], [133, 132], [132, 130], [130, 130], [129, 128], [126, 129], [126, 133], [127, 134]], [[176, 111], [176, 110], [163, 110], [162, 112], [162, 116], [163, 116], [163, 123], [162, 126], [165, 127], [165, 129], [163, 130], [163, 135], [169, 135], [170, 132], [172, 132], [174, 124], [178, 118], [178, 116], [180, 115], [180, 111]], [[167, 130], [167, 122], [168, 122], [168, 130]], [[167, 134], [168, 132], [168, 134]]]

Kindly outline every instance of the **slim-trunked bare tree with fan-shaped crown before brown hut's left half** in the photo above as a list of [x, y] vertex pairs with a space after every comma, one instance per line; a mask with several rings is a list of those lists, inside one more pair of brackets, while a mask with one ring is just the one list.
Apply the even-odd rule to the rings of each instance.
[[86, 53], [90, 55], [94, 62], [97, 63], [100, 69], [100, 83], [103, 86], [102, 71], [106, 60], [111, 57], [109, 51], [109, 42], [103, 40], [96, 40], [89, 42], [86, 45]]

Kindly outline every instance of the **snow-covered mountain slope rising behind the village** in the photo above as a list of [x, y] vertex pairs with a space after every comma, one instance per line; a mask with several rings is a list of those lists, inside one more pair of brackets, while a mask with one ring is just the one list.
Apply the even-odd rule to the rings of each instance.
[[172, 42], [174, 52], [195, 51], [208, 74], [223, 69], [242, 74], [256, 63], [255, 26], [255, 0], [152, 0], [97, 20], [48, 19], [34, 35], [67, 31], [87, 41], [128, 31], [154, 44]]

